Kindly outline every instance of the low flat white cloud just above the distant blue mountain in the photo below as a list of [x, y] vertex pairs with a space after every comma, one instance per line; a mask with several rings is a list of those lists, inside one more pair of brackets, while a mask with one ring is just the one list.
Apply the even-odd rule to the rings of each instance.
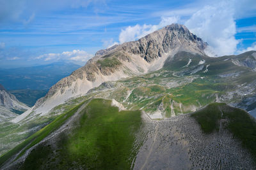
[[62, 52], [62, 53], [46, 53], [40, 55], [35, 59], [42, 59], [45, 61], [49, 60], [72, 60], [75, 62], [86, 62], [88, 59], [92, 58], [93, 55], [87, 53], [83, 50], [73, 50], [72, 52]]

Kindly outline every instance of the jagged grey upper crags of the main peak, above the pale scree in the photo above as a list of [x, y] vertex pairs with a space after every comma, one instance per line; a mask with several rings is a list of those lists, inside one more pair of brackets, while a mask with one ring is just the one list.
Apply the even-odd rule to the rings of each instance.
[[134, 55], [140, 55], [147, 62], [152, 62], [152, 60], [162, 57], [164, 53], [168, 53], [175, 48], [204, 54], [206, 46], [207, 43], [191, 33], [186, 26], [172, 24], [154, 31], [137, 41], [111, 46], [106, 50], [99, 50], [95, 55], [105, 56], [113, 51], [121, 50]]

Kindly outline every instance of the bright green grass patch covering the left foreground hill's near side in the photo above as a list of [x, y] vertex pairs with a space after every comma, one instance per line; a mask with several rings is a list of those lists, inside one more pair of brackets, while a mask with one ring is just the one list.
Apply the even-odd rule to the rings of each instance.
[[86, 169], [130, 169], [140, 111], [118, 111], [111, 101], [93, 99], [81, 114], [72, 136], [59, 143], [61, 166], [76, 162]]

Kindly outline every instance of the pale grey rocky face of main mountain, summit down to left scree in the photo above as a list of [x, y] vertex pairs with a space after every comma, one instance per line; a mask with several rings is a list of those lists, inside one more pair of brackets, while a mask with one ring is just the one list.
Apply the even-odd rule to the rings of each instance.
[[52, 86], [47, 95], [36, 102], [34, 111], [45, 114], [70, 97], [84, 95], [104, 81], [161, 69], [164, 61], [179, 51], [203, 55], [206, 46], [207, 43], [189, 32], [184, 25], [172, 24], [138, 41], [100, 50], [85, 66]]

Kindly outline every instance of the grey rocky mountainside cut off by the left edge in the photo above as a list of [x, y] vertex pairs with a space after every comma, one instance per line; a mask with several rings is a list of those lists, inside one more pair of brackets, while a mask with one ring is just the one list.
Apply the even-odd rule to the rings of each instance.
[[28, 110], [29, 107], [17, 100], [17, 98], [4, 89], [0, 84], [0, 122], [17, 117], [17, 114], [21, 114]]

